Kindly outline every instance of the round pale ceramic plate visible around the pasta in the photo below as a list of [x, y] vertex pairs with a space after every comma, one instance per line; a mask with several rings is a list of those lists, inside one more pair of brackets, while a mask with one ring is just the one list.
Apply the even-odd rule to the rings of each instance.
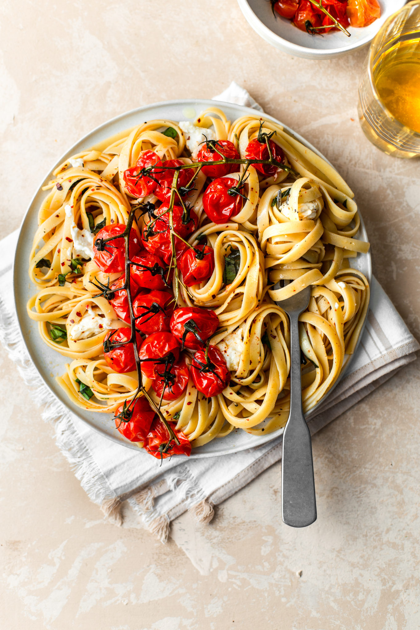
[[[51, 171], [75, 153], [86, 151], [87, 149], [94, 147], [99, 142], [102, 142], [103, 140], [106, 140], [125, 129], [130, 129], [135, 125], [139, 125], [139, 123], [144, 122], [145, 120], [153, 120], [154, 118], [165, 118], [166, 120], [193, 120], [196, 115], [205, 110], [205, 108], [215, 105], [224, 110], [230, 120], [235, 120], [247, 113], [256, 113], [256, 110], [251, 110], [250, 108], [242, 107], [241, 105], [230, 105], [228, 103], [219, 103], [218, 101], [210, 100], [167, 101], [164, 103], [156, 103], [156, 105], [147, 105], [118, 116], [117, 118], [113, 118], [113, 120], [110, 120], [104, 125], [98, 127], [98, 129], [95, 129], [93, 132], [86, 135], [74, 146], [72, 146], [69, 151], [64, 154], [64, 156], [60, 157], [59, 161], [53, 166]], [[264, 115], [264, 118], [267, 120], [275, 120], [275, 118], [268, 115]], [[278, 121], [275, 120], [275, 122]], [[293, 137], [300, 140], [300, 142], [309, 147], [309, 149], [312, 149], [312, 151], [315, 151], [319, 156], [323, 157], [317, 149], [312, 147], [312, 145], [310, 145], [309, 142], [306, 142], [302, 137], [300, 137], [300, 135], [295, 134], [295, 132], [285, 125], [283, 126], [285, 131], [292, 134]], [[122, 437], [122, 435], [120, 435], [120, 433], [118, 433], [118, 431], [116, 431], [115, 423], [112, 420], [111, 414], [84, 411], [69, 401], [64, 391], [55, 381], [55, 377], [57, 375], [63, 374], [64, 365], [69, 362], [69, 359], [67, 357], [62, 357], [62, 355], [58, 352], [54, 352], [54, 350], [45, 346], [45, 343], [43, 343], [38, 334], [37, 322], [30, 319], [26, 312], [26, 302], [35, 292], [35, 286], [30, 282], [28, 277], [28, 260], [33, 235], [38, 227], [38, 209], [43, 198], [47, 195], [47, 192], [42, 190], [42, 186], [50, 180], [51, 171], [38, 188], [38, 191], [35, 194], [35, 197], [33, 197], [28, 211], [26, 212], [25, 218], [23, 219], [18, 239], [18, 246], [16, 249], [16, 256], [14, 258], [14, 300], [23, 339], [25, 340], [26, 348], [28, 348], [30, 357], [37, 367], [38, 372], [42, 376], [43, 381], [45, 381], [52, 394], [59, 398], [67, 409], [72, 411], [82, 421], [88, 423], [90, 427], [100, 433], [103, 433], [103, 435], [106, 435], [106, 437], [111, 440], [114, 440], [114, 442], [139, 450], [139, 447], [126, 440]], [[361, 221], [358, 238], [363, 241], [368, 240], [363, 221]], [[366, 277], [370, 281], [372, 277], [370, 254], [360, 254], [353, 260], [355, 261], [355, 266], [365, 273]], [[344, 371], [348, 368], [351, 358], [352, 357], [346, 355], [346, 364], [344, 365], [344, 369], [341, 372], [338, 381], [343, 378]], [[313, 413], [313, 411], [311, 413]], [[224, 455], [237, 452], [239, 450], [246, 450], [251, 447], [264, 444], [265, 442], [269, 442], [270, 440], [273, 440], [273, 438], [278, 437], [278, 435], [281, 435], [282, 432], [283, 429], [280, 429], [274, 433], [257, 437], [249, 435], [242, 430], [236, 430], [223, 439], [220, 438], [218, 440], [216, 438], [202, 447], [193, 449], [191, 457], [212, 457], [213, 455]]]

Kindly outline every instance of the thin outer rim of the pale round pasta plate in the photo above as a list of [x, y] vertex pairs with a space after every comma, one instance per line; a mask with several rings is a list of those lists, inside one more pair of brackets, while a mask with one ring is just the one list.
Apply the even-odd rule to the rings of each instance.
[[[23, 339], [23, 342], [25, 343], [25, 347], [26, 350], [28, 352], [28, 354], [30, 355], [30, 358], [33, 362], [33, 364], [35, 365], [35, 368], [37, 369], [38, 374], [40, 374], [40, 377], [42, 378], [43, 382], [45, 383], [45, 385], [48, 387], [48, 389], [50, 390], [50, 392], [52, 393], [52, 395], [54, 396], [54, 398], [57, 398], [60, 403], [62, 403], [64, 405], [64, 407], [66, 408], [66, 410], [70, 413], [74, 413], [77, 418], [79, 420], [81, 420], [82, 422], [86, 423], [89, 425], [90, 428], [92, 428], [94, 431], [97, 431], [99, 433], [101, 433], [101, 435], [104, 435], [106, 438], [112, 440], [113, 442], [116, 442], [117, 444], [122, 444], [125, 447], [128, 447], [130, 449], [134, 449], [139, 453], [143, 453], [144, 455], [145, 452], [142, 449], [139, 449], [139, 447], [137, 447], [135, 444], [133, 444], [132, 442], [129, 442], [128, 440], [123, 440], [122, 438], [118, 437], [120, 434], [118, 433], [118, 435], [115, 435], [115, 428], [113, 428], [113, 432], [110, 432], [110, 430], [107, 430], [107, 428], [105, 427], [98, 427], [96, 425], [93, 425], [92, 423], [90, 423], [88, 420], [86, 420], [86, 418], [83, 418], [81, 416], [80, 410], [79, 408], [77, 408], [76, 405], [74, 405], [74, 407], [71, 407], [69, 404], [69, 401], [67, 399], [67, 397], [65, 396], [64, 391], [57, 386], [57, 391], [55, 391], [54, 387], [52, 387], [52, 383], [55, 382], [54, 377], [52, 377], [50, 379], [50, 382], [48, 382], [48, 379], [46, 379], [43, 374], [42, 374], [42, 369], [40, 369], [40, 364], [42, 364], [42, 360], [40, 360], [36, 355], [34, 355], [30, 344], [28, 344], [26, 342], [25, 339], [25, 335], [24, 335], [24, 323], [25, 323], [25, 318], [26, 321], [35, 328], [35, 326], [37, 325], [37, 322], [31, 320], [28, 317], [28, 314], [26, 313], [26, 302], [25, 304], [21, 304], [20, 300], [19, 300], [19, 280], [20, 280], [20, 275], [18, 275], [19, 273], [19, 267], [20, 267], [20, 260], [23, 260], [23, 258], [21, 258], [20, 260], [18, 259], [18, 252], [21, 249], [21, 244], [23, 241], [23, 232], [24, 232], [24, 227], [25, 227], [25, 223], [28, 221], [31, 212], [37, 212], [38, 211], [38, 207], [33, 207], [33, 205], [35, 204], [38, 195], [40, 195], [40, 193], [42, 193], [42, 186], [45, 185], [45, 183], [47, 183], [47, 181], [50, 180], [51, 178], [51, 174], [52, 171], [54, 171], [55, 168], [57, 168], [57, 166], [59, 166], [59, 164], [62, 164], [65, 159], [67, 159], [67, 157], [71, 156], [74, 153], [74, 149], [82, 143], [85, 143], [86, 146], [84, 147], [83, 150], [86, 150], [86, 148], [89, 148], [91, 146], [94, 146], [94, 144], [98, 144], [98, 140], [96, 140], [95, 142], [91, 142], [90, 144], [88, 144], [89, 141], [89, 137], [92, 137], [94, 135], [99, 134], [101, 131], [105, 130], [107, 127], [110, 127], [111, 125], [113, 125], [113, 123], [118, 123], [118, 122], [122, 122], [123, 120], [125, 120], [126, 118], [130, 118], [134, 115], [139, 115], [139, 121], [141, 120], [141, 118], [143, 118], [142, 116], [140, 116], [140, 114], [142, 112], [146, 112], [147, 110], [150, 110], [152, 108], [169, 108], [171, 106], [183, 106], [184, 109], [187, 108], [192, 108], [192, 109], [196, 109], [196, 108], [202, 108], [201, 111], [203, 111], [205, 108], [209, 107], [209, 106], [219, 106], [220, 109], [223, 109], [224, 107], [228, 107], [228, 108], [232, 108], [234, 110], [236, 110], [237, 112], [241, 112], [242, 114], [246, 114], [246, 113], [252, 113], [253, 115], [255, 115], [256, 113], [259, 114], [260, 112], [258, 110], [255, 110], [253, 108], [244, 106], [244, 105], [237, 105], [236, 103], [227, 103], [225, 101], [216, 101], [216, 100], [212, 100], [212, 99], [178, 99], [178, 100], [171, 100], [171, 101], [159, 101], [157, 103], [150, 103], [149, 105], [144, 105], [142, 107], [139, 108], [134, 108], [133, 110], [130, 110], [128, 112], [122, 113], [114, 118], [111, 118], [110, 120], [107, 120], [105, 123], [102, 123], [101, 125], [98, 125], [98, 127], [95, 127], [95, 129], [91, 130], [90, 132], [88, 132], [88, 134], [85, 134], [83, 137], [81, 137], [81, 139], [77, 140], [77, 142], [74, 142], [74, 144], [67, 150], [64, 152], [64, 154], [59, 158], [59, 160], [57, 161], [57, 163], [52, 166], [52, 168], [50, 168], [48, 170], [47, 175], [45, 176], [45, 178], [43, 178], [42, 182], [40, 183], [40, 185], [37, 188], [37, 191], [35, 192], [35, 194], [33, 195], [29, 205], [28, 205], [28, 209], [26, 210], [26, 213], [21, 221], [21, 225], [20, 225], [20, 229], [19, 229], [19, 236], [18, 236], [18, 243], [16, 245], [16, 254], [14, 256], [14, 260], [13, 260], [13, 294], [14, 294], [14, 307], [15, 307], [15, 311], [16, 311], [16, 316], [18, 319], [18, 325], [20, 328], [20, 333]], [[307, 146], [310, 150], [314, 151], [318, 156], [322, 157], [322, 159], [326, 160], [326, 162], [328, 164], [330, 164], [332, 166], [332, 164], [326, 159], [325, 156], [322, 155], [322, 153], [316, 149], [316, 147], [312, 146], [312, 144], [310, 144], [310, 142], [308, 142], [307, 140], [305, 140], [302, 136], [300, 136], [300, 134], [297, 134], [297, 132], [295, 132], [294, 130], [290, 129], [290, 127], [288, 127], [288, 125], [285, 125], [284, 123], [280, 122], [279, 120], [277, 120], [275, 117], [270, 116], [269, 114], [266, 113], [262, 113], [261, 112], [261, 116], [263, 116], [264, 118], [267, 118], [268, 120], [272, 120], [273, 122], [279, 123], [280, 125], [283, 126], [283, 129], [285, 129], [285, 131], [288, 132], [288, 134], [292, 135], [293, 137], [295, 137], [297, 140], [299, 140], [300, 142], [302, 142], [302, 144], [304, 144], [305, 146]], [[170, 118], [169, 118], [170, 120]], [[121, 130], [123, 129], [129, 129], [130, 126], [128, 125], [127, 127], [122, 127]], [[113, 134], [110, 134], [110, 137]], [[334, 168], [334, 167], [333, 167]], [[43, 193], [44, 195], [46, 195], [47, 193]], [[366, 238], [367, 240], [367, 235], [366, 235], [366, 229], [365, 229], [365, 224], [363, 222], [363, 217], [361, 217], [360, 214], [360, 232], [361, 234], [358, 234], [358, 236], [362, 236], [363, 239]], [[372, 257], [370, 255], [370, 252], [368, 252], [366, 256], [366, 269], [365, 269], [365, 275], [368, 278], [368, 282], [371, 284], [372, 283]], [[26, 264], [26, 259], [25, 259], [25, 264]], [[25, 269], [25, 266], [23, 267]], [[27, 277], [27, 265], [26, 265], [26, 277]], [[33, 285], [31, 285], [31, 287], [33, 287]], [[351, 364], [351, 362], [353, 361], [353, 358], [355, 357], [356, 354], [356, 350], [358, 348], [358, 345], [360, 343], [361, 340], [361, 336], [363, 335], [363, 330], [366, 324], [366, 318], [365, 318], [365, 322], [363, 323], [363, 328], [361, 329], [360, 332], [360, 336], [358, 338], [358, 343], [356, 345], [355, 348], [355, 352], [353, 353], [353, 355], [346, 355], [348, 358], [348, 361], [344, 367], [344, 369], [342, 370], [341, 374], [339, 375], [337, 381], [334, 383], [334, 386], [332, 386], [332, 388], [327, 392], [326, 397], [322, 398], [321, 401], [319, 401], [319, 403], [317, 403], [317, 405], [314, 406], [314, 408], [312, 408], [312, 410], [310, 410], [309, 412], [309, 416], [314, 416], [314, 412], [317, 410], [317, 408], [321, 405], [324, 404], [327, 396], [329, 396], [332, 392], [332, 390], [338, 385], [338, 383], [343, 379], [344, 375], [346, 374], [349, 365]], [[38, 331], [37, 331], [38, 334]], [[57, 357], [61, 357], [62, 355], [59, 355], [59, 353], [57, 353]], [[62, 357], [64, 360], [67, 357]], [[42, 366], [45, 369], [45, 366]], [[58, 392], [58, 393], [57, 393]], [[106, 417], [105, 414], [101, 415], [103, 417]], [[240, 452], [240, 451], [244, 451], [244, 450], [250, 450], [250, 449], [254, 449], [254, 448], [258, 448], [259, 446], [266, 444], [267, 442], [271, 442], [272, 440], [275, 440], [275, 438], [280, 437], [280, 435], [283, 433], [283, 428], [278, 429], [277, 431], [273, 432], [273, 433], [269, 433], [268, 435], [265, 436], [261, 436], [258, 438], [258, 440], [253, 439], [254, 436], [249, 436], [250, 440], [253, 440], [253, 444], [251, 445], [241, 445], [240, 447], [237, 447], [236, 445], [234, 445], [233, 447], [226, 447], [225, 449], [219, 449], [218, 452], [203, 452], [202, 450], [200, 451], [200, 449], [205, 449], [206, 445], [203, 445], [203, 447], [198, 447], [197, 449], [193, 449], [193, 451], [191, 452], [190, 455], [190, 459], [198, 459], [198, 458], [203, 458], [203, 457], [217, 457], [220, 455], [229, 455], [229, 454], [233, 454], [236, 452]], [[232, 435], [232, 434], [230, 434]], [[229, 436], [228, 436], [229, 437]], [[227, 438], [224, 438], [224, 440]], [[216, 438], [217, 440], [217, 438]], [[220, 439], [220, 444], [223, 444], [224, 440], [222, 441], [222, 438]], [[219, 440], [217, 440], [219, 442]], [[215, 440], [212, 440], [212, 442], [209, 442], [208, 444], [213, 444], [215, 442]], [[256, 442], [258, 442], [258, 444], [256, 444]], [[200, 451], [200, 452], [199, 452]], [[149, 456], [149, 455], [147, 455]], [[176, 457], [179, 457], [179, 459], [183, 459], [183, 455], [177, 455]]]

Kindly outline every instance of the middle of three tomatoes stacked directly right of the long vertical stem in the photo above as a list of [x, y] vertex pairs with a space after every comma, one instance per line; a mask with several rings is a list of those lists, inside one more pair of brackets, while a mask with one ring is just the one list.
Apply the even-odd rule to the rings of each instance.
[[137, 330], [145, 335], [169, 330], [173, 313], [173, 306], [169, 304], [172, 301], [173, 297], [167, 291], [140, 291], [133, 302]]

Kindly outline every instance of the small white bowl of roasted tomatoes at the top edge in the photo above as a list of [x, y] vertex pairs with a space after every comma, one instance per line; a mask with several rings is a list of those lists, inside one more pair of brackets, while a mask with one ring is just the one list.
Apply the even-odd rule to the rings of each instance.
[[381, 16], [365, 28], [351, 28], [347, 37], [341, 31], [330, 31], [321, 35], [309, 35], [293, 26], [290, 20], [280, 15], [273, 15], [270, 0], [238, 0], [242, 13], [266, 42], [287, 52], [289, 55], [304, 59], [331, 59], [360, 48], [372, 41], [383, 22], [398, 11], [406, 0], [378, 0]]

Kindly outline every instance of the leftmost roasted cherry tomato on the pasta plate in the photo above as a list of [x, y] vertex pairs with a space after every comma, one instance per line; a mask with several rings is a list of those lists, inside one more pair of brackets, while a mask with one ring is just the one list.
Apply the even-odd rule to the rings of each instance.
[[[96, 234], [93, 244], [94, 261], [99, 269], [105, 273], [122, 272], [125, 267], [125, 242], [123, 238], [116, 238], [108, 243], [103, 243], [103, 251], [99, 251], [101, 247], [101, 239], [118, 236], [125, 231], [125, 225], [122, 223], [114, 223], [105, 226]], [[137, 254], [140, 250], [140, 239], [137, 232], [132, 229], [130, 238], [128, 239], [128, 247], [130, 249], [130, 257]]]

